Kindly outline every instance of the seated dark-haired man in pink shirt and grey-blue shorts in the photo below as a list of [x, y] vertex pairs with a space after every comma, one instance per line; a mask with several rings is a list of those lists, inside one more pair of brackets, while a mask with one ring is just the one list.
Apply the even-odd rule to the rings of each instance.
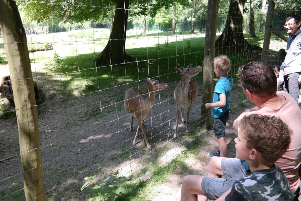
[[[278, 116], [292, 130], [287, 152], [275, 164], [285, 173], [294, 200], [298, 199], [301, 163], [301, 110], [288, 93], [277, 91], [277, 79], [272, 68], [262, 62], [251, 62], [240, 67], [239, 80], [244, 94], [256, 107], [241, 114], [233, 123], [238, 130], [238, 121], [253, 113]], [[188, 175], [183, 178], [181, 200], [217, 199], [231, 189], [234, 181], [250, 169], [247, 161], [237, 158], [210, 158], [207, 177]], [[223, 177], [223, 178], [222, 178]], [[260, 189], [259, 189], [260, 190]], [[197, 199], [196, 195], [200, 195]]]

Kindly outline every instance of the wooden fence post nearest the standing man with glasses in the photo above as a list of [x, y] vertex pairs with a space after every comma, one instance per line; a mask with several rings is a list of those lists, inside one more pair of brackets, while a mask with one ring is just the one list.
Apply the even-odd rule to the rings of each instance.
[[267, 63], [267, 61], [268, 61], [268, 53], [269, 53], [269, 49], [270, 49], [271, 28], [272, 28], [272, 24], [273, 24], [274, 8], [275, 8], [275, 2], [273, 0], [270, 0], [268, 2], [268, 13], [266, 15], [264, 40], [263, 40], [263, 46], [262, 46], [262, 52], [261, 52], [261, 61], [263, 63]]

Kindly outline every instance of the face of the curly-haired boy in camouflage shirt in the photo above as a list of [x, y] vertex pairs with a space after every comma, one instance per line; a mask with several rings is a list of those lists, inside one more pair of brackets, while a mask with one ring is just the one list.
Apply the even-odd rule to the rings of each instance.
[[247, 140], [244, 133], [238, 128], [238, 136], [234, 139], [236, 148], [236, 157], [242, 160], [248, 160], [251, 150], [247, 148]]

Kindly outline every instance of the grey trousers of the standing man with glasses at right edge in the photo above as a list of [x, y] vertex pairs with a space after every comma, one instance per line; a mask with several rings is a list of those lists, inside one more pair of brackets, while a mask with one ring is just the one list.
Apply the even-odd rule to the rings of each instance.
[[301, 72], [284, 75], [284, 91], [293, 96], [297, 103], [299, 101], [301, 88], [301, 84], [298, 84], [298, 77], [300, 74]]

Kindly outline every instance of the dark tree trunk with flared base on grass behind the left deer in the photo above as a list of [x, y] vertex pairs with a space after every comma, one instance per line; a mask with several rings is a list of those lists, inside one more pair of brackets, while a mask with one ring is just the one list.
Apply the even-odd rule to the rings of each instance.
[[129, 13], [129, 0], [115, 0], [116, 10], [112, 33], [110, 34], [107, 46], [95, 59], [95, 64], [122, 64], [129, 61], [131, 57], [126, 54], [126, 28]]

